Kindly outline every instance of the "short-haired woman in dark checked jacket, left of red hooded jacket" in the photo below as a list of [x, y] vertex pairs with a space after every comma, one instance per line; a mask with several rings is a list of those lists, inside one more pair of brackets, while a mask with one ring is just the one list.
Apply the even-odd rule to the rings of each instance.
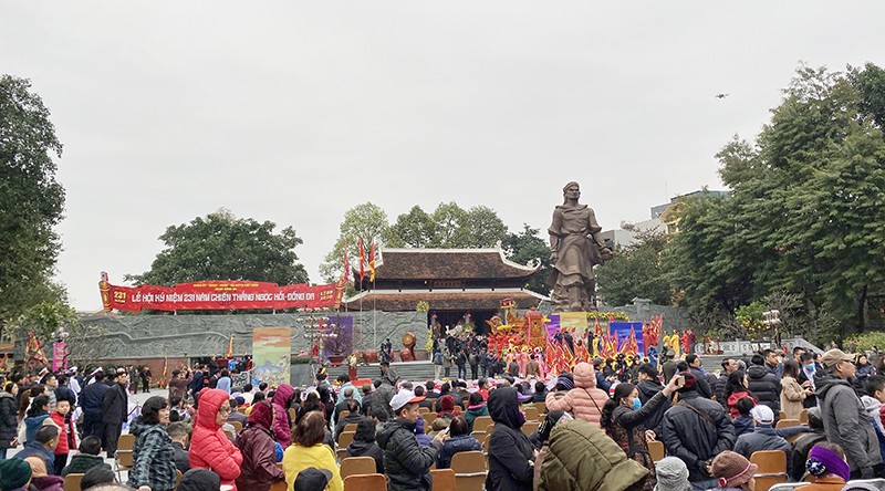
[[[133, 466], [128, 485], [139, 491], [173, 491], [176, 487], [175, 447], [166, 432], [169, 404], [154, 396], [142, 406], [142, 416], [132, 424], [135, 435]], [[145, 490], [147, 488], [147, 490]]]

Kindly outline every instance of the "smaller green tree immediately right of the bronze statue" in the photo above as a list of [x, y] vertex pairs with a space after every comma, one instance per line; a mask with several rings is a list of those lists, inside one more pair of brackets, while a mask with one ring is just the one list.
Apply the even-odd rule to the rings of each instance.
[[670, 284], [662, 261], [666, 243], [663, 232], [638, 232], [636, 242], [620, 248], [613, 259], [595, 268], [601, 300], [606, 305], [626, 305], [639, 297], [669, 305]]

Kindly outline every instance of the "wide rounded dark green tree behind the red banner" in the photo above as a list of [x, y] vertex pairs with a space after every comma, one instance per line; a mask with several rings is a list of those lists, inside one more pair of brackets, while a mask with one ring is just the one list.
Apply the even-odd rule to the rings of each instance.
[[302, 243], [291, 227], [235, 217], [218, 210], [190, 223], [170, 226], [159, 239], [166, 249], [150, 270], [127, 274], [138, 284], [171, 285], [200, 280], [252, 280], [304, 283], [308, 273], [294, 249]]

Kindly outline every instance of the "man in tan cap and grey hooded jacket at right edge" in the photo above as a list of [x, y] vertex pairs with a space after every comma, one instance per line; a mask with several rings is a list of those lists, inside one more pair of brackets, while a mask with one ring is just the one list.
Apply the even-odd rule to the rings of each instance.
[[818, 380], [826, 439], [842, 447], [847, 456], [851, 477], [870, 479], [882, 463], [878, 439], [848, 379], [854, 377], [854, 358], [841, 349], [830, 349], [821, 357], [829, 376]]

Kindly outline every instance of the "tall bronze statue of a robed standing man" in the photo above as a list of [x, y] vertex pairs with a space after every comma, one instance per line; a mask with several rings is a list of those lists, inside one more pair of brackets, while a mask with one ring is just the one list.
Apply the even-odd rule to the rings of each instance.
[[612, 250], [605, 247], [593, 209], [577, 202], [581, 186], [569, 182], [562, 194], [564, 202], [553, 210], [553, 223], [548, 230], [553, 312], [593, 311], [596, 310], [593, 267], [611, 259]]

